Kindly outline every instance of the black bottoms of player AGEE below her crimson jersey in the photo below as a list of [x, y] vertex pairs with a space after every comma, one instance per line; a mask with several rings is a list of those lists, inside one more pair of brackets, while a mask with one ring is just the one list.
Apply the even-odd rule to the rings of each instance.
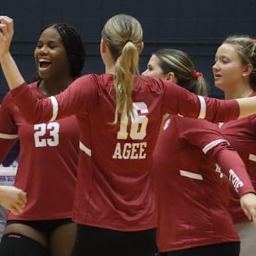
[[156, 229], [122, 232], [78, 224], [72, 256], [154, 256]]

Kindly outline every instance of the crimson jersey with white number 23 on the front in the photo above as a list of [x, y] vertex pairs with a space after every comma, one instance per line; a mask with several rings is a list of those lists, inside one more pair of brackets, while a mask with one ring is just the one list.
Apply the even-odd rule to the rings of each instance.
[[[29, 87], [38, 99], [46, 97], [38, 90], [37, 82]], [[8, 218], [71, 218], [79, 150], [75, 116], [28, 124], [8, 93], [0, 108], [0, 161], [17, 138], [21, 149], [15, 186], [26, 191], [28, 203], [23, 213], [9, 213]]]

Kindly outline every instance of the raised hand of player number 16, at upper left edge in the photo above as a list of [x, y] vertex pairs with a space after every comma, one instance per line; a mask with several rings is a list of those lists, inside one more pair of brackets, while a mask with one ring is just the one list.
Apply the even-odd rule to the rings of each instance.
[[14, 21], [8, 16], [0, 16], [0, 56], [9, 53], [14, 36]]

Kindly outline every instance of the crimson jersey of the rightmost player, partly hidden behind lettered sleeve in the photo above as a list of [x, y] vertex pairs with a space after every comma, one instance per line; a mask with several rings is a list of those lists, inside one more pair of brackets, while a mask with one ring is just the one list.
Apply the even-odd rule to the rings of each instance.
[[[253, 92], [250, 96], [255, 96]], [[256, 188], [256, 114], [220, 124], [221, 132], [245, 162], [253, 186]], [[238, 195], [231, 190], [230, 212], [234, 223], [248, 221], [240, 207]]]

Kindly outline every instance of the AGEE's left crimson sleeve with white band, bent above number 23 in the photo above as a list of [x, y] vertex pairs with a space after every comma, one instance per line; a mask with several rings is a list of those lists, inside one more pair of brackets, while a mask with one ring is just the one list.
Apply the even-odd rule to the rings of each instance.
[[38, 99], [26, 83], [11, 90], [11, 95], [28, 123], [48, 122], [72, 114], [86, 116], [90, 112], [92, 88], [95, 89], [92, 75], [75, 80], [58, 95]]

